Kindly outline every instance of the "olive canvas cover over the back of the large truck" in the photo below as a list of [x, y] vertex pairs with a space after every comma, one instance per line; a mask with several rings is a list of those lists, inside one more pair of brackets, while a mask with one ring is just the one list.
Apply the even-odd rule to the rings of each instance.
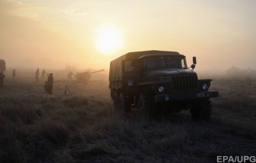
[[179, 54], [178, 52], [169, 52], [169, 51], [160, 51], [160, 50], [149, 50], [141, 52], [129, 52], [126, 53], [117, 59], [114, 59], [110, 62], [109, 67], [109, 81], [122, 80], [122, 60], [132, 60], [138, 59], [143, 55], [150, 54]]

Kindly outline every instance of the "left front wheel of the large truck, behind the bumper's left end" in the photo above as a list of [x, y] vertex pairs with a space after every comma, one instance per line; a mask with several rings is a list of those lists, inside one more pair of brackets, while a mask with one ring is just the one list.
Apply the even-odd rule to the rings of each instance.
[[150, 117], [150, 112], [152, 110], [152, 102], [150, 98], [145, 94], [140, 94], [138, 99], [138, 110], [140, 117], [148, 118]]

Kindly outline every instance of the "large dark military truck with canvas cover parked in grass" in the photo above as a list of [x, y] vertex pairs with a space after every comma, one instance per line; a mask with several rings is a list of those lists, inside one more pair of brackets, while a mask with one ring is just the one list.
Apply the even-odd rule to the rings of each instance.
[[129, 52], [110, 62], [109, 89], [114, 108], [122, 113], [137, 110], [143, 117], [191, 110], [193, 120], [209, 120], [211, 79], [199, 80], [179, 52], [150, 50]]

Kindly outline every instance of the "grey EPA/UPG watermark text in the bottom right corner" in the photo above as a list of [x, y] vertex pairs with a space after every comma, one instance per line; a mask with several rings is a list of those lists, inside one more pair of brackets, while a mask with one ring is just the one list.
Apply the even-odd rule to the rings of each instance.
[[227, 156], [218, 155], [217, 162], [256, 162], [255, 156]]

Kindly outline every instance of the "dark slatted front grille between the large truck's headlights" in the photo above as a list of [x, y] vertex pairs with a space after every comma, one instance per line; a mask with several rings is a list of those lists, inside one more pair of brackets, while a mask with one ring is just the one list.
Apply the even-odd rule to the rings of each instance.
[[173, 77], [173, 89], [178, 91], [195, 90], [197, 83], [196, 75], [189, 76], [174, 76]]

